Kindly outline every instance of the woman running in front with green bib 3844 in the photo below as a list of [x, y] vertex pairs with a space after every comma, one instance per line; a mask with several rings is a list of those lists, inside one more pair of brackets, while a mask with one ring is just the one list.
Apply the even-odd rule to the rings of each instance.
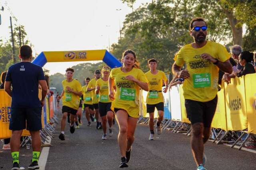
[[[123, 66], [113, 68], [109, 77], [109, 98], [119, 125], [118, 144], [121, 152], [120, 168], [128, 167], [134, 132], [139, 117], [139, 90], [148, 91], [148, 80], [142, 70], [136, 68], [136, 55], [132, 50], [124, 51]], [[116, 86], [114, 93], [113, 86]]]

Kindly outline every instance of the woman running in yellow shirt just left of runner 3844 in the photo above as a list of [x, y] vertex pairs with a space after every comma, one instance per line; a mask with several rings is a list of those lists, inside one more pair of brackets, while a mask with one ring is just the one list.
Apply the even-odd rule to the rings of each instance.
[[109, 136], [113, 135], [112, 132], [112, 124], [114, 111], [111, 110], [111, 100], [108, 97], [108, 77], [109, 77], [110, 68], [108, 66], [104, 66], [102, 68], [102, 78], [99, 78], [96, 81], [96, 89], [95, 93], [99, 94], [99, 112], [100, 117], [102, 118], [102, 129], [103, 136], [102, 140], [107, 139], [107, 121], [109, 125]]

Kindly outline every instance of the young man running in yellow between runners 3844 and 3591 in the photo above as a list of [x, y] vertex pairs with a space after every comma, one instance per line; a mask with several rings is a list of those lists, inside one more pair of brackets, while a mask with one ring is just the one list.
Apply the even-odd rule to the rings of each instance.
[[158, 121], [156, 122], [156, 132], [158, 135], [162, 133], [161, 122], [164, 119], [164, 96], [162, 94], [163, 80], [165, 84], [164, 93], [168, 90], [168, 79], [163, 71], [157, 70], [156, 59], [148, 60], [150, 70], [145, 73], [148, 79], [149, 92], [146, 99], [147, 113], [149, 113], [149, 129], [150, 136], [148, 140], [154, 140], [154, 111], [158, 110]]

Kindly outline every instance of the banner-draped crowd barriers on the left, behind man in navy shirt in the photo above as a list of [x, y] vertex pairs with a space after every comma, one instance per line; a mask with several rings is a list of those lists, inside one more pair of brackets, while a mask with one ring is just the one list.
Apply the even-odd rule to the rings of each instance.
[[[41, 98], [41, 90], [39, 90], [38, 98]], [[11, 119], [11, 100], [12, 98], [3, 90], [0, 90], [0, 139], [10, 138], [12, 131], [9, 130], [10, 119]], [[42, 107], [42, 130], [40, 131], [42, 143], [49, 142], [49, 137], [53, 137], [53, 132], [55, 131], [54, 123], [57, 122], [57, 118], [54, 115], [56, 111], [56, 106], [54, 105], [55, 98], [50, 96], [45, 98], [45, 105]], [[22, 142], [22, 146], [31, 140], [30, 132], [26, 129], [23, 130], [22, 136], [26, 138]]]

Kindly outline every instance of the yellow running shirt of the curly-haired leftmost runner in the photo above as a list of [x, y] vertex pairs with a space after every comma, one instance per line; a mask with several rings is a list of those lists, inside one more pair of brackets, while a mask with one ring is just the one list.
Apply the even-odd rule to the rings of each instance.
[[62, 98], [62, 105], [68, 106], [73, 109], [78, 109], [80, 103], [80, 96], [75, 95], [74, 93], [66, 90], [66, 87], [70, 87], [72, 90], [76, 92], [82, 91], [82, 86], [78, 80], [73, 79], [71, 82], [67, 82], [67, 80], [62, 81], [62, 86], [64, 89], [64, 95]]

